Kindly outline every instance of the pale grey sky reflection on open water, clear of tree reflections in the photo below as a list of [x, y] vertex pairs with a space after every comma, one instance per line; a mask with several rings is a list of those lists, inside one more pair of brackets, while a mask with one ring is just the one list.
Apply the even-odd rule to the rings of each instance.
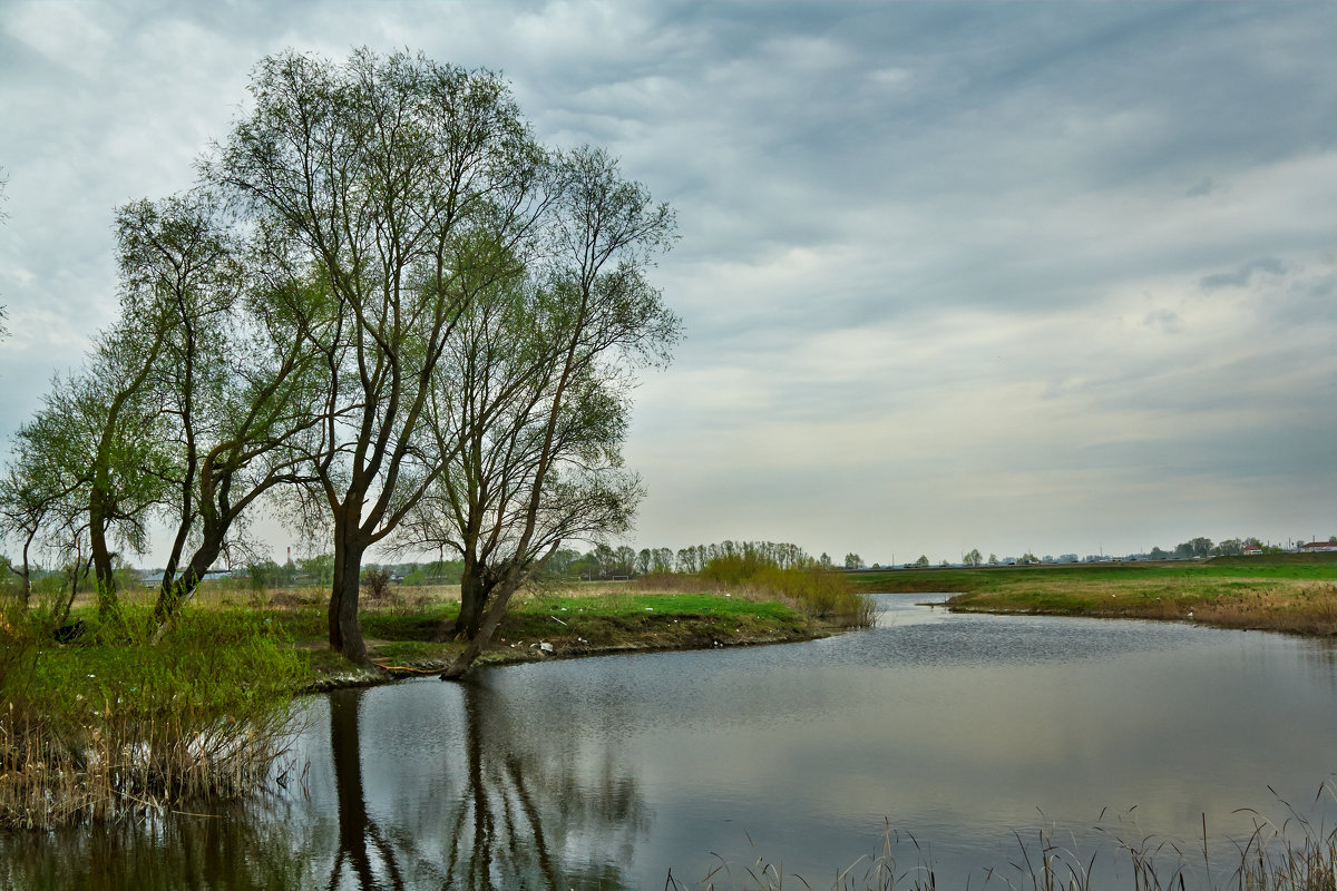
[[[703, 875], [713, 851], [822, 875], [878, 847], [882, 818], [932, 844], [945, 875], [1005, 862], [1013, 828], [1050, 822], [1094, 844], [1102, 811], [1128, 838], [1191, 840], [1203, 812], [1238, 835], [1231, 812], [1270, 808], [1269, 784], [1308, 803], [1332, 772], [1332, 672], [1309, 643], [924, 600], [886, 597], [878, 629], [806, 645], [484, 672], [489, 744], [634, 787], [651, 815], [639, 838], [563, 842], [630, 858], [632, 887], [670, 867]], [[459, 699], [431, 681], [366, 695], [373, 811], [432, 812]]]

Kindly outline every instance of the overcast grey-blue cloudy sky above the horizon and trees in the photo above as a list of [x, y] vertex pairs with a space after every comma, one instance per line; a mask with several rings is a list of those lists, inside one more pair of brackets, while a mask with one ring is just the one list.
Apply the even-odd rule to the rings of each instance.
[[262, 56], [408, 47], [678, 211], [636, 546], [1326, 538], [1334, 35], [1317, 3], [0, 0], [0, 438], [112, 318], [114, 210], [191, 184]]

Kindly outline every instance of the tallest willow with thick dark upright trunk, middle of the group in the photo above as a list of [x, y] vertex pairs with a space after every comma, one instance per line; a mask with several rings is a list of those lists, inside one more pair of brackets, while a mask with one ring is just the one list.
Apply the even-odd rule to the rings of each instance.
[[476, 293], [529, 250], [544, 155], [497, 76], [421, 55], [286, 52], [250, 91], [206, 175], [329, 289], [321, 422], [301, 450], [334, 540], [329, 641], [364, 661], [362, 554], [441, 473], [420, 448], [432, 381]]

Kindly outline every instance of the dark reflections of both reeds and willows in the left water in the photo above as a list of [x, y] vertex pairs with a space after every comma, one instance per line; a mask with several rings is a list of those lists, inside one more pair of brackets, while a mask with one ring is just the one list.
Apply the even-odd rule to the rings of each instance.
[[[447, 689], [463, 701], [457, 721], [445, 721], [455, 729], [439, 740], [445, 757], [431, 783], [405, 781], [394, 768], [421, 769], [433, 745], [425, 740], [408, 755], [414, 763], [396, 764], [397, 755], [378, 748], [384, 728], [360, 725], [366, 691], [338, 691], [329, 695], [333, 800], [312, 788], [303, 804], [293, 787], [289, 796], [267, 795], [213, 815], [0, 835], [0, 888], [626, 888], [618, 864], [630, 862], [648, 818], [635, 783], [614, 769], [615, 759], [607, 751], [584, 757], [590, 753], [560, 728], [533, 731], [552, 720], [512, 721], [504, 696], [483, 684]], [[388, 777], [382, 785], [405, 788], [365, 783], [366, 764], [376, 764], [373, 776]]]

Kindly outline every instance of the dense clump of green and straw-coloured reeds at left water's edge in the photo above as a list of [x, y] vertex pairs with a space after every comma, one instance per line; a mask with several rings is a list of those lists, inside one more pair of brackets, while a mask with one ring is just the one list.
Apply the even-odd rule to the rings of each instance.
[[147, 609], [55, 644], [0, 620], [0, 828], [164, 812], [262, 788], [291, 739], [299, 663], [263, 618], [187, 612], [159, 645]]

